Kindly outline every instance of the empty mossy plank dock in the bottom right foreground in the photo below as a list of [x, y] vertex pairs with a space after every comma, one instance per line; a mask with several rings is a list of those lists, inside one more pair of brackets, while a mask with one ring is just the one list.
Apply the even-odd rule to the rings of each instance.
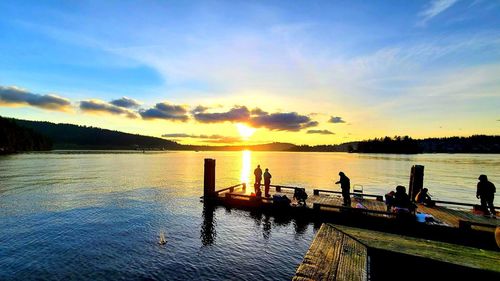
[[498, 251], [323, 224], [293, 280], [498, 280], [498, 277]]

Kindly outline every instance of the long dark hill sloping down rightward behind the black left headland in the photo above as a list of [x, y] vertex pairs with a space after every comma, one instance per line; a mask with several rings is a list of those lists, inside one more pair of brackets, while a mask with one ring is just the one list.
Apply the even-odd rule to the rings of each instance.
[[49, 138], [55, 149], [182, 149], [182, 145], [162, 138], [72, 124], [10, 120]]

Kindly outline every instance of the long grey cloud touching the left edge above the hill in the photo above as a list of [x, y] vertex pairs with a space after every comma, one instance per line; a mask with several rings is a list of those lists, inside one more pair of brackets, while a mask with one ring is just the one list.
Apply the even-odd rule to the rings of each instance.
[[57, 95], [39, 95], [18, 87], [0, 86], [0, 105], [31, 105], [48, 110], [68, 111], [71, 103]]

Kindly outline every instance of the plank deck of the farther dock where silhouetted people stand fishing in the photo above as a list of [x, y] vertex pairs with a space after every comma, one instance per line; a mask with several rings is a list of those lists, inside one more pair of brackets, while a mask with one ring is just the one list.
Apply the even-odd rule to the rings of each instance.
[[[228, 188], [217, 190], [215, 192], [215, 201], [220, 204], [233, 207], [246, 208], [273, 208], [275, 207], [272, 195], [286, 195], [289, 199], [293, 198], [296, 187], [271, 185], [271, 197], [251, 196], [249, 190], [244, 184], [234, 185]], [[253, 188], [252, 188], [253, 190]], [[361, 215], [366, 218], [377, 218], [383, 220], [397, 219], [397, 215], [387, 211], [383, 196], [374, 194], [351, 193], [351, 207], [342, 205], [343, 200], [338, 191], [314, 189], [313, 194], [309, 194], [306, 206], [299, 206], [292, 201], [291, 207], [296, 212], [321, 214], [324, 217], [328, 215]], [[417, 204], [417, 212], [432, 216], [432, 220], [426, 222], [426, 225], [470, 229], [479, 227], [481, 230], [491, 231], [500, 225], [500, 219], [485, 217], [472, 212], [472, 204], [454, 203], [446, 201], [436, 201], [436, 206], [428, 207], [423, 204]], [[439, 203], [446, 202], [446, 203]], [[446, 204], [446, 205], [445, 205]], [[449, 205], [460, 205], [462, 209], [450, 208]], [[463, 207], [469, 206], [470, 210]]]

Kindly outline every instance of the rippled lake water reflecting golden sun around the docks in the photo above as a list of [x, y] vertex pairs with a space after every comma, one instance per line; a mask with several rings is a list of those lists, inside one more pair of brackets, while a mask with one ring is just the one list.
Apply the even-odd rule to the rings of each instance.
[[[433, 198], [477, 203], [480, 174], [500, 185], [500, 155], [287, 152], [69, 152], [0, 157], [0, 280], [288, 280], [316, 229], [295, 220], [205, 208], [203, 159], [217, 188], [251, 180], [365, 193], [408, 186], [425, 166]], [[160, 233], [167, 244], [159, 245]]]

